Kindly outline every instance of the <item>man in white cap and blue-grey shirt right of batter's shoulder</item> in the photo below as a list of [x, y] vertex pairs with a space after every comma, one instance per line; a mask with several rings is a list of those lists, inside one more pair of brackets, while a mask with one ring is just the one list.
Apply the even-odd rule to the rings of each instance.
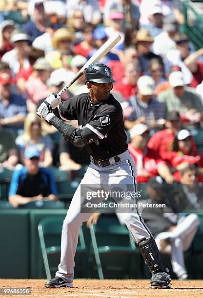
[[137, 81], [137, 87], [138, 93], [127, 101], [125, 127], [131, 129], [138, 123], [147, 123], [155, 127], [156, 120], [164, 118], [164, 110], [162, 104], [153, 97], [154, 80], [148, 75], [142, 75]]

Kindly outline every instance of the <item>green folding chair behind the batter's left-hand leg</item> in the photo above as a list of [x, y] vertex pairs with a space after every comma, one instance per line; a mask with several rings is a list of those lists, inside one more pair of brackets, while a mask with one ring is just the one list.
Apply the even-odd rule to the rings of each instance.
[[[55, 266], [50, 266], [48, 261], [53, 255], [58, 255], [58, 257], [61, 254], [61, 230], [62, 230], [62, 224], [63, 224], [64, 216], [61, 217], [45, 217], [43, 218], [40, 223], [38, 224], [38, 232], [40, 237], [40, 245], [41, 245], [41, 252], [42, 252], [42, 258], [44, 263], [44, 268], [46, 272], [47, 279], [51, 279], [51, 272], [55, 272], [58, 270], [59, 261], [57, 260], [57, 263], [55, 261]], [[86, 246], [84, 242], [84, 237], [82, 233], [82, 228], [80, 227], [79, 230], [79, 242], [76, 250], [76, 255], [81, 255], [82, 257], [86, 257]], [[82, 258], [83, 260], [85, 258]], [[52, 260], [53, 261], [53, 260]], [[77, 269], [80, 266], [77, 266]], [[85, 272], [86, 270], [86, 264], [85, 261], [82, 264], [82, 271]]]

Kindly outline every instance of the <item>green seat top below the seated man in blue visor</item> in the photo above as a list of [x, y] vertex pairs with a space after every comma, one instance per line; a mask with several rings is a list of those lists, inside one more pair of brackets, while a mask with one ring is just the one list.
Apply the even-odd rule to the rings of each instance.
[[24, 205], [19, 205], [20, 209], [64, 209], [65, 204], [60, 201], [33, 201]]

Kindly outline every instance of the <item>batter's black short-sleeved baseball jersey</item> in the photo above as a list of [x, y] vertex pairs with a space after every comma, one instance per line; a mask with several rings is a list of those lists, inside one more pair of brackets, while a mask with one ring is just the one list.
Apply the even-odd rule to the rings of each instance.
[[99, 144], [88, 145], [93, 158], [103, 160], [127, 150], [122, 107], [111, 93], [97, 104], [90, 102], [89, 93], [73, 96], [61, 102], [59, 111], [62, 119], [78, 120], [80, 128], [86, 126], [97, 135]]

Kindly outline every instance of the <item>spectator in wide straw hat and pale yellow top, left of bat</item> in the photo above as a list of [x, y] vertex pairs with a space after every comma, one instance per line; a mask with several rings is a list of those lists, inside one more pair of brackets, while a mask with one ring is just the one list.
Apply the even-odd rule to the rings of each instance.
[[57, 50], [48, 53], [45, 58], [54, 69], [62, 67], [61, 52], [71, 49], [75, 41], [74, 35], [66, 28], [60, 28], [54, 32], [52, 44]]

